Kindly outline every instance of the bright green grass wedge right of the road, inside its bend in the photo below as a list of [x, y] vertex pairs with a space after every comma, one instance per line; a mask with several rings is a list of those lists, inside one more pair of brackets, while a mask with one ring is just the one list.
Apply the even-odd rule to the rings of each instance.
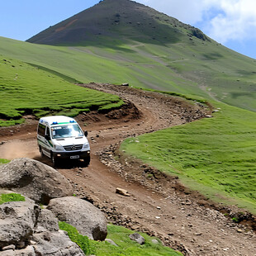
[[256, 213], [256, 113], [215, 105], [214, 118], [127, 139], [121, 149], [206, 197]]

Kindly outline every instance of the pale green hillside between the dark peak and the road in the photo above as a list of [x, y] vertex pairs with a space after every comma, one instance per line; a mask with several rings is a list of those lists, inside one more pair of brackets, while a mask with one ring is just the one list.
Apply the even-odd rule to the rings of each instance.
[[50, 46], [0, 37], [1, 55], [51, 70], [69, 81], [130, 83], [256, 111], [256, 60], [213, 40], [189, 40], [181, 34], [179, 42], [159, 45], [102, 36], [83, 46]]

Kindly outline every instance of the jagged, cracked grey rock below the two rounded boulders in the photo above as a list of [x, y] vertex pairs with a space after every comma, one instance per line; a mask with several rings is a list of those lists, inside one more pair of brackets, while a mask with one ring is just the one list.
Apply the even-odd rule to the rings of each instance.
[[[8, 193], [1, 191], [1, 193]], [[9, 201], [0, 205], [0, 255], [84, 255], [63, 230], [58, 219], [35, 201]]]

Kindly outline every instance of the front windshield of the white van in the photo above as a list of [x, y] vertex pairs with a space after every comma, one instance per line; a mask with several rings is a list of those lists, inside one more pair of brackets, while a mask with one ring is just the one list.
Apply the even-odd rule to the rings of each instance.
[[78, 125], [55, 126], [51, 128], [53, 139], [72, 138], [83, 136], [83, 131]]

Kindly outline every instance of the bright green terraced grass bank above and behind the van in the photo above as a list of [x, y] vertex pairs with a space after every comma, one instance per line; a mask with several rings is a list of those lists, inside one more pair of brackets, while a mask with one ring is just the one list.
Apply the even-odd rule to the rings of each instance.
[[81, 88], [69, 78], [16, 59], [0, 59], [0, 71], [0, 126], [19, 124], [27, 114], [77, 116], [123, 104], [117, 96]]

